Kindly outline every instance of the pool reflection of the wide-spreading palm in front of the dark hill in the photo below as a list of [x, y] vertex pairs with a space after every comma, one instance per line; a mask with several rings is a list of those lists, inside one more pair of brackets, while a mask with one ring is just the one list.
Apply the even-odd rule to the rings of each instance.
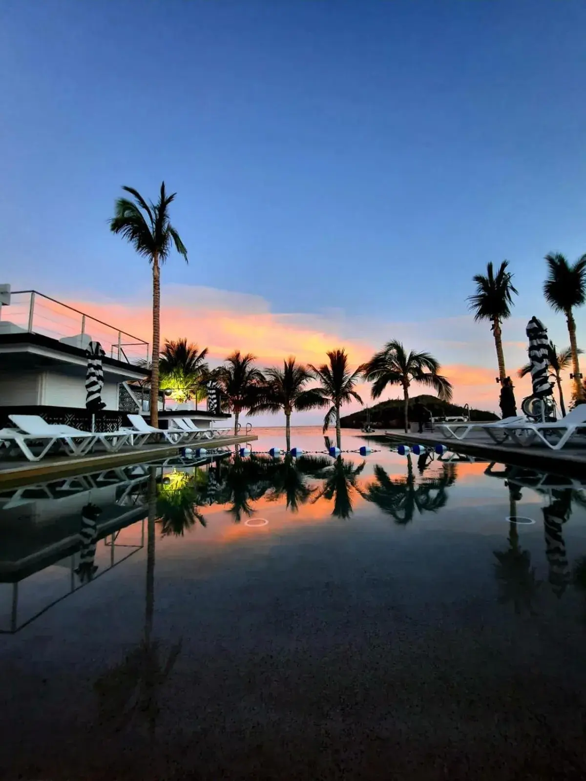
[[360, 493], [366, 501], [372, 501], [381, 510], [391, 515], [395, 522], [405, 525], [413, 520], [415, 512], [437, 512], [448, 501], [446, 488], [456, 481], [452, 465], [445, 465], [439, 477], [423, 478], [416, 483], [411, 456], [407, 456], [407, 474], [398, 480], [392, 479], [379, 464], [374, 467], [376, 482], [370, 483]]

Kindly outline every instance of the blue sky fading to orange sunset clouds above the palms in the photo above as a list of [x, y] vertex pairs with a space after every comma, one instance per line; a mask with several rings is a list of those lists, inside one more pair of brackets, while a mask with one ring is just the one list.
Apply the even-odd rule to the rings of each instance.
[[586, 251], [585, 26], [573, 0], [5, 0], [0, 281], [150, 341], [148, 266], [108, 219], [164, 179], [189, 263], [163, 269], [163, 337], [260, 366], [399, 338], [496, 409], [474, 273], [515, 274], [509, 373], [531, 316], [568, 343], [541, 285], [547, 252]]

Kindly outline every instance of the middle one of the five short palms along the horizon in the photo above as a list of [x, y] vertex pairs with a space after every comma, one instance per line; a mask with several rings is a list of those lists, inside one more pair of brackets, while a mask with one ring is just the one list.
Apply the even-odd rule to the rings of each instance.
[[266, 385], [263, 387], [259, 402], [251, 409], [251, 414], [256, 412], [280, 412], [285, 413], [285, 437], [287, 449], [291, 450], [291, 413], [294, 409], [302, 412], [307, 409], [325, 407], [327, 399], [319, 389], [306, 390], [309, 380], [313, 380], [314, 374], [306, 366], [295, 361], [289, 356], [283, 362], [283, 368], [270, 366], [265, 369]]

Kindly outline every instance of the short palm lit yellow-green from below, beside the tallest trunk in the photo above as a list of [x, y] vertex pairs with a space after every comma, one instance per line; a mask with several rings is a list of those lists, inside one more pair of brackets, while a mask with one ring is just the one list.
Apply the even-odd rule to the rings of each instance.
[[187, 401], [195, 395], [202, 396], [202, 383], [209, 375], [205, 362], [208, 348], [199, 351], [197, 344], [188, 344], [187, 339], [165, 340], [165, 347], [159, 358], [159, 387], [173, 389], [177, 401]]

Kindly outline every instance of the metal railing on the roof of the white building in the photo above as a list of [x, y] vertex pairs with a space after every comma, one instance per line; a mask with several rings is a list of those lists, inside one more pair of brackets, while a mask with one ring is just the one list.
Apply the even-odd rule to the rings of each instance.
[[0, 307], [0, 316], [2, 323], [12, 323], [17, 331], [39, 333], [81, 348], [98, 341], [109, 358], [139, 366], [148, 362], [148, 342], [38, 291], [14, 291], [10, 304]]

